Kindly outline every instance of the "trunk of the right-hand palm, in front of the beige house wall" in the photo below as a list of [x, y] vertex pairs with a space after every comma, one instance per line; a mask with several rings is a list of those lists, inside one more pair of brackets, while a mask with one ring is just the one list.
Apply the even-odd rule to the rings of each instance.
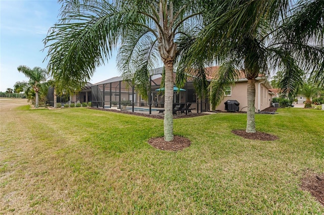
[[248, 120], [247, 130], [248, 133], [255, 133], [255, 79], [248, 80]]

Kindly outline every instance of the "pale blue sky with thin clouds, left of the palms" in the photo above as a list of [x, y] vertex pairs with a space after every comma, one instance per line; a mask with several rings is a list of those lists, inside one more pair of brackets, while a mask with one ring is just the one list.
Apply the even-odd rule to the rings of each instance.
[[[46, 69], [43, 39], [58, 22], [60, 4], [56, 0], [0, 0], [0, 91], [14, 89], [17, 81], [28, 81], [18, 72], [20, 65]], [[115, 55], [96, 69], [90, 80], [97, 83], [119, 76]]]

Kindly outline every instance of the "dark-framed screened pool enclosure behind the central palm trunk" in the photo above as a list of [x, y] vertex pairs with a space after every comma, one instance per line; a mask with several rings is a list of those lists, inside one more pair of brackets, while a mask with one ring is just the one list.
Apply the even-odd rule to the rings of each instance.
[[[132, 86], [130, 81], [123, 80], [122, 77], [114, 77], [92, 85], [92, 106], [108, 109], [127, 105], [129, 110], [152, 111], [164, 109], [164, 91], [158, 90], [161, 87], [163, 68], [153, 69], [150, 73], [150, 87], [148, 89], [148, 100], [144, 100], [136, 91], [136, 86]], [[175, 77], [175, 73], [174, 73]], [[175, 78], [174, 78], [175, 80]], [[198, 99], [192, 81], [187, 81], [183, 90], [174, 92], [174, 106], [183, 105], [186, 107], [190, 103], [191, 112], [206, 112], [209, 109], [208, 100]], [[187, 110], [184, 111], [187, 114]]]

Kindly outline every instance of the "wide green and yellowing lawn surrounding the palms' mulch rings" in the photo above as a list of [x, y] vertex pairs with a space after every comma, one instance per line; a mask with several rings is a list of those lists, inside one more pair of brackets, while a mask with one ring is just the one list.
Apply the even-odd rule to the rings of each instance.
[[0, 213], [323, 214], [299, 185], [324, 172], [324, 112], [278, 112], [256, 115], [276, 141], [232, 134], [244, 114], [177, 119], [174, 133], [192, 144], [168, 152], [147, 143], [161, 120], [23, 106], [2, 116]]

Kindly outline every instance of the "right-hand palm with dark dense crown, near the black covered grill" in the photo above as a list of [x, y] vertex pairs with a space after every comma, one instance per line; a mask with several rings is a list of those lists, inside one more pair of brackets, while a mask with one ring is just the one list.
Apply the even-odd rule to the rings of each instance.
[[[206, 27], [187, 53], [187, 65], [191, 66], [195, 56], [222, 63], [219, 76], [210, 86], [213, 108], [220, 103], [225, 88], [234, 82], [238, 71], [244, 72], [248, 79], [246, 132], [255, 133], [256, 79], [268, 76], [275, 69], [302, 77], [300, 66], [313, 66], [315, 60], [322, 59], [323, 48], [303, 41], [286, 41], [286, 32], [280, 30], [279, 24], [286, 18], [289, 1], [237, 0], [225, 1], [222, 6], [211, 7], [210, 13], [206, 13]], [[301, 59], [306, 61], [298, 61]]]

